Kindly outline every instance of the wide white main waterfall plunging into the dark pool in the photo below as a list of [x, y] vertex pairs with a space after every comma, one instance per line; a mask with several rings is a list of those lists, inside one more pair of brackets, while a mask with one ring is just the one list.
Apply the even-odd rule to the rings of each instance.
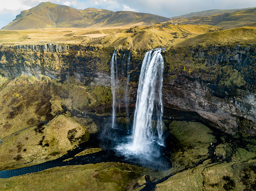
[[[146, 145], [156, 141], [164, 145], [162, 140], [162, 73], [164, 59], [161, 49], [153, 49], [144, 56], [139, 76], [136, 109], [133, 123], [133, 150], [143, 152]], [[156, 110], [157, 124], [152, 123], [152, 115]], [[155, 124], [156, 127], [153, 127]], [[157, 136], [156, 136], [157, 135]]]

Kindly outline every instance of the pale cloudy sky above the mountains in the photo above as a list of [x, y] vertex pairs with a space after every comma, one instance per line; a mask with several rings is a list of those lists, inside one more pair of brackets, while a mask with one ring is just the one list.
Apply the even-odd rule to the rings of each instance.
[[167, 18], [212, 9], [256, 7], [255, 0], [0, 0], [0, 29], [12, 22], [21, 11], [48, 1], [76, 9], [94, 7], [111, 11], [136, 11]]

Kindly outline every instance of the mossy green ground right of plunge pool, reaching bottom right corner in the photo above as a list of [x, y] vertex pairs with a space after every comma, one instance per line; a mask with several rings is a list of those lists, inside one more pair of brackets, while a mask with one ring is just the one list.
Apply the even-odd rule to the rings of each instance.
[[175, 175], [156, 190], [255, 189], [255, 138], [218, 134], [198, 122], [172, 121], [169, 130]]

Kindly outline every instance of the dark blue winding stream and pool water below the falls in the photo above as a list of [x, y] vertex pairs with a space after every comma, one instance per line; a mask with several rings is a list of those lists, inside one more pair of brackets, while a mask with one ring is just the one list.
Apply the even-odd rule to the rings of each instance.
[[[115, 137], [114, 140], [117, 138], [122, 141], [123, 138], [127, 135], [128, 131], [124, 130], [117, 130], [108, 128], [108, 133], [112, 134], [112, 138]], [[25, 175], [27, 173], [39, 172], [46, 169], [54, 168], [54, 167], [63, 167], [66, 165], [80, 165], [80, 164], [96, 164], [101, 162], [122, 162], [122, 163], [129, 163], [135, 165], [141, 165], [143, 167], [148, 167], [151, 169], [157, 170], [167, 170], [170, 168], [170, 162], [168, 161], [167, 157], [165, 157], [165, 152], [163, 149], [161, 150], [162, 156], [156, 159], [156, 161], [147, 161], [146, 159], [138, 159], [138, 158], [127, 158], [123, 156], [121, 153], [117, 152], [114, 147], [117, 142], [113, 142], [112, 140], [103, 139], [103, 141], [98, 140], [97, 137], [100, 135], [91, 135], [88, 142], [80, 144], [79, 147], [75, 148], [75, 150], [70, 151], [64, 156], [59, 157], [56, 160], [44, 162], [41, 164], [33, 165], [30, 167], [13, 169], [13, 170], [3, 170], [0, 172], [0, 178], [10, 178], [19, 175]], [[82, 156], [76, 156], [76, 154], [88, 149], [88, 148], [95, 148], [100, 145], [105, 145], [108, 147], [108, 150], [103, 150], [97, 153], [86, 154]], [[73, 158], [73, 159], [71, 159]], [[71, 159], [65, 161], [66, 159]]]

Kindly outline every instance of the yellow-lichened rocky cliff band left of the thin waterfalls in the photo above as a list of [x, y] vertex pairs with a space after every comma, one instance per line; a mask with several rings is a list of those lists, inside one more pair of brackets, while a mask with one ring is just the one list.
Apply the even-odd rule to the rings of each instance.
[[[90, 84], [106, 84], [110, 78], [102, 65], [99, 56], [92, 56], [96, 47], [69, 46], [58, 44], [17, 45], [15, 47], [0, 47], [0, 69], [5, 77], [16, 78], [21, 74], [36, 76], [40, 74], [52, 79], [70, 80]], [[105, 63], [107, 64], [107, 63]], [[103, 76], [106, 78], [103, 79]], [[95, 79], [96, 78], [96, 79]]]

